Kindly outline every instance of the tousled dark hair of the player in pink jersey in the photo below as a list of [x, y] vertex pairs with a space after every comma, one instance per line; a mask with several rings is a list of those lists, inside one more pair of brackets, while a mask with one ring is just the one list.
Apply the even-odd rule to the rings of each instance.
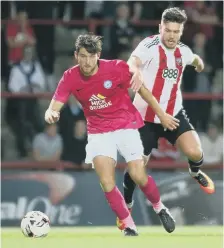
[[75, 42], [75, 50], [79, 52], [80, 48], [85, 48], [88, 53], [99, 53], [102, 51], [102, 36], [94, 34], [79, 35]]

